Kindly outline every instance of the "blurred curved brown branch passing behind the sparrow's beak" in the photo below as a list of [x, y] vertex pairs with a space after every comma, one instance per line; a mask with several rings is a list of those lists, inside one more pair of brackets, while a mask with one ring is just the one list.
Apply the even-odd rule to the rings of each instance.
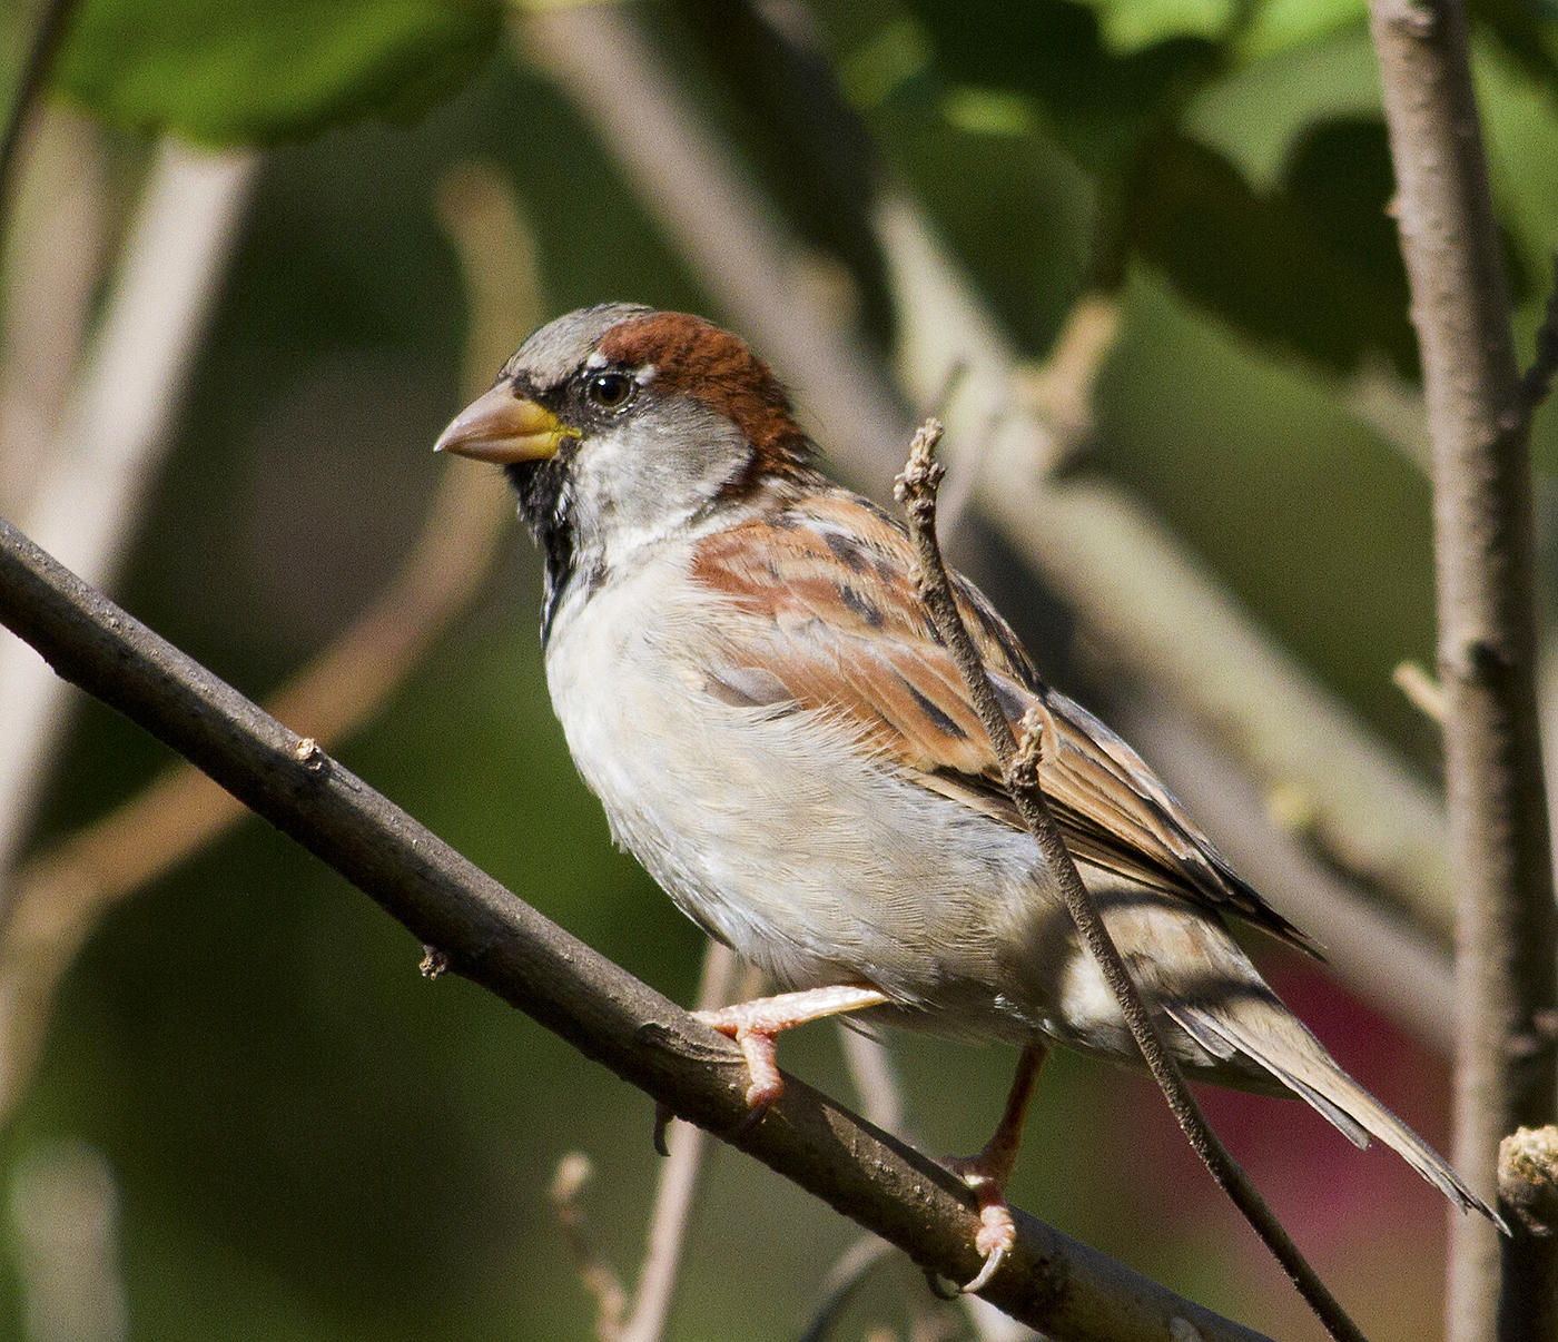
[[[469, 365], [481, 368], [485, 380], [503, 357], [494, 354], [499, 327], [539, 315], [533, 251], [511, 195], [491, 173], [461, 168], [450, 175], [442, 214], [471, 277]], [[509, 511], [506, 489], [474, 468], [442, 479], [421, 535], [390, 583], [274, 695], [270, 712], [326, 745], [357, 731], [471, 603]], [[31, 1075], [61, 974], [103, 913], [215, 842], [245, 814], [199, 770], [176, 765], [17, 873], [0, 943], [0, 1118]]]

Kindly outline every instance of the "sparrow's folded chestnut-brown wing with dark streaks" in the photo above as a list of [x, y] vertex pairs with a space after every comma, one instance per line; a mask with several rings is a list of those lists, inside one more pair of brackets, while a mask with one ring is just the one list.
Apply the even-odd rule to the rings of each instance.
[[[957, 666], [915, 595], [911, 558], [904, 532], [844, 491], [707, 536], [693, 578], [740, 613], [715, 653], [728, 666], [712, 669], [712, 680], [728, 690], [760, 669], [760, 684], [846, 722], [863, 747], [925, 787], [1020, 828]], [[1041, 782], [1080, 860], [1315, 951], [1232, 871], [1131, 747], [1039, 681], [977, 588], [957, 578], [957, 595], [1008, 717], [1036, 703], [1053, 723]]]

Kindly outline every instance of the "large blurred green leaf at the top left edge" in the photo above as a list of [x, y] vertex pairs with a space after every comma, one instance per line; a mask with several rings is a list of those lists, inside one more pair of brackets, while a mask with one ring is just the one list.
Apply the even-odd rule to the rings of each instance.
[[502, 0], [86, 0], [61, 90], [114, 125], [207, 143], [413, 117], [491, 53]]

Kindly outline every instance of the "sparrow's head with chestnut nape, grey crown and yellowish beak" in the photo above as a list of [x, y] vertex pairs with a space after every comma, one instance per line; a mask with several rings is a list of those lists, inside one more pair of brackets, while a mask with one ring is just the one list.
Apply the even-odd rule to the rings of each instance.
[[562, 542], [570, 566], [611, 567], [765, 480], [812, 474], [790, 399], [746, 341], [625, 302], [542, 326], [435, 450], [502, 463], [548, 560]]

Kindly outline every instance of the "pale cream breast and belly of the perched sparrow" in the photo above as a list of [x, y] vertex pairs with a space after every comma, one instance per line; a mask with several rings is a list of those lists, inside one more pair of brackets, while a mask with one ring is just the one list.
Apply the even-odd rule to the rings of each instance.
[[553, 705], [617, 842], [782, 984], [868, 980], [980, 1018], [943, 1027], [1020, 1033], [997, 1002], [997, 946], [1036, 898], [1027, 835], [877, 764], [826, 712], [712, 681], [707, 603], [678, 608], [676, 578], [654, 563], [608, 584], [548, 647]]

